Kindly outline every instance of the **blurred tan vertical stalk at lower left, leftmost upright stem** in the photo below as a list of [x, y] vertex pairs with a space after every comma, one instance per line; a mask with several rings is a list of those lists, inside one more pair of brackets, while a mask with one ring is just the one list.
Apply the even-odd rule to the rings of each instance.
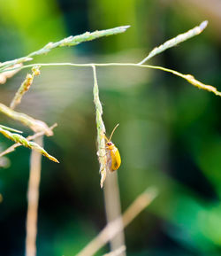
[[[43, 137], [35, 138], [35, 143], [43, 145]], [[37, 218], [39, 185], [41, 180], [42, 155], [32, 151], [30, 175], [27, 188], [27, 237], [26, 256], [36, 256]]]

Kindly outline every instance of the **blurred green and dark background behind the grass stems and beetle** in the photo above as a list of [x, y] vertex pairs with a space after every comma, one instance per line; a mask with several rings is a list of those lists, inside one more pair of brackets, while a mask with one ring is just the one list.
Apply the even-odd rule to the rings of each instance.
[[[85, 31], [131, 25], [125, 34], [53, 50], [34, 62], [139, 62], [165, 40], [209, 20], [193, 39], [151, 64], [194, 74], [221, 89], [221, 2], [218, 0], [8, 0], [0, 1], [0, 60], [18, 58]], [[128, 255], [221, 253], [221, 98], [179, 77], [134, 67], [98, 71], [103, 119], [122, 156], [118, 170], [123, 211], [143, 190], [159, 197], [126, 229]], [[9, 105], [27, 70], [0, 87]], [[58, 123], [42, 159], [38, 221], [39, 256], [75, 255], [105, 225], [95, 145], [90, 68], [45, 67], [18, 111]], [[5, 118], [1, 123], [27, 128]], [[1, 149], [11, 143], [1, 136]], [[0, 255], [25, 250], [30, 151], [19, 148], [0, 169]], [[97, 255], [108, 252], [104, 247]]]

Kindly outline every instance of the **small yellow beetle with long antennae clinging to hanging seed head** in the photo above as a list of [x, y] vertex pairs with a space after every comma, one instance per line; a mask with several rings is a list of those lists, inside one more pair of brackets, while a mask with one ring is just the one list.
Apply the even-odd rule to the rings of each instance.
[[110, 172], [118, 170], [118, 167], [120, 167], [120, 164], [121, 164], [121, 158], [120, 158], [118, 148], [115, 146], [115, 144], [113, 144], [110, 141], [116, 128], [118, 128], [118, 125], [119, 124], [117, 124], [116, 127], [113, 128], [109, 139], [104, 135], [104, 138], [107, 141], [106, 142], [107, 165], [110, 169]]

